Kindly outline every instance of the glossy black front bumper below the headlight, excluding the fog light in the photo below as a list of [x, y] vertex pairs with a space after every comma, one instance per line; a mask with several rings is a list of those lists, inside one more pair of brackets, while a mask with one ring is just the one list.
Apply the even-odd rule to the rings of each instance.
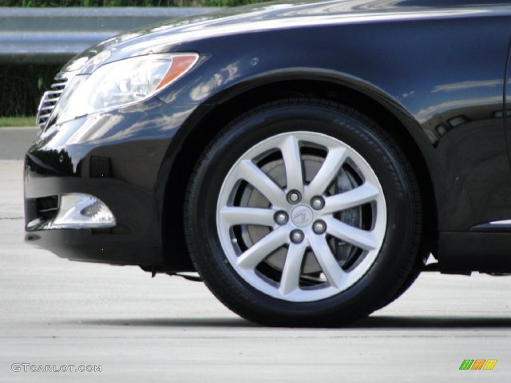
[[[25, 241], [73, 260], [164, 265], [160, 169], [192, 111], [151, 100], [41, 132], [25, 158]], [[62, 196], [76, 194], [103, 202], [114, 225], [56, 226]]]

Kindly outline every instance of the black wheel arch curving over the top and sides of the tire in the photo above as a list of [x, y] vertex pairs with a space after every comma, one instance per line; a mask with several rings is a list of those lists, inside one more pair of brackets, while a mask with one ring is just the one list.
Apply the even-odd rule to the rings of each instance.
[[[437, 205], [427, 156], [422, 149], [430, 142], [419, 124], [389, 94], [363, 80], [325, 70], [298, 68], [274, 71], [224, 89], [197, 108], [186, 126], [176, 134], [173, 148], [169, 150], [177, 153], [168, 166], [167, 180], [172, 182], [166, 180], [162, 211], [166, 269], [172, 272], [193, 270], [182, 228], [184, 185], [208, 142], [229, 121], [255, 105], [289, 97], [323, 98], [349, 105], [374, 119], [396, 139], [413, 166], [423, 195], [422, 247], [428, 254], [435, 253]], [[180, 187], [175, 187], [176, 184]], [[169, 232], [173, 234], [168, 235]]]

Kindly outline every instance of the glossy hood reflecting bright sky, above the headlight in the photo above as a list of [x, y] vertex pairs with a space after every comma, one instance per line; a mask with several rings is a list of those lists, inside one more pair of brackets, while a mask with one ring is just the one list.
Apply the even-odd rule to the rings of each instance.
[[91, 73], [100, 65], [128, 57], [178, 52], [181, 43], [203, 38], [308, 25], [487, 14], [490, 4], [495, 5], [484, 0], [295, 0], [228, 8], [114, 36], [75, 56], [61, 73]]

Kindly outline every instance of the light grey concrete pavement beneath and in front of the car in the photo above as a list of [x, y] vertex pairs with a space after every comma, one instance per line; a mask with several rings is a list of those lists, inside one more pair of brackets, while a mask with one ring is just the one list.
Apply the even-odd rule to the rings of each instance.
[[[231, 314], [200, 283], [24, 245], [20, 158], [32, 134], [0, 129], [0, 382], [511, 378], [511, 278], [424, 274], [350, 328], [264, 328]], [[460, 371], [467, 358], [498, 362]], [[74, 367], [15, 372], [16, 363]], [[80, 365], [101, 372], [75, 372]]]

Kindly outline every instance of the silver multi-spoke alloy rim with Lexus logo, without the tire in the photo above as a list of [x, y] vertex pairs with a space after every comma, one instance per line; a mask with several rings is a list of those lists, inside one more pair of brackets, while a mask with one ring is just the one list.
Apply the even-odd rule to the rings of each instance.
[[350, 288], [373, 265], [387, 209], [358, 152], [296, 131], [257, 143], [231, 167], [216, 223], [227, 261], [253, 288], [312, 302]]

